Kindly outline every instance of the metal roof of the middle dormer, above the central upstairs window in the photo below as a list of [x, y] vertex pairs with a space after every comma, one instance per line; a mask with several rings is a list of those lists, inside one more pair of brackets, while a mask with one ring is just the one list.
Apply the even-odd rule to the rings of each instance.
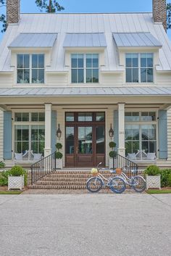
[[104, 33], [67, 33], [64, 47], [107, 47]]

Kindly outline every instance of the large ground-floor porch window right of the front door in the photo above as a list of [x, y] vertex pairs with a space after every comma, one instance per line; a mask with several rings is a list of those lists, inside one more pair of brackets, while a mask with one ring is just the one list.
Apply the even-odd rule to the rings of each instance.
[[139, 150], [156, 152], [157, 149], [156, 112], [125, 112], [126, 154]]

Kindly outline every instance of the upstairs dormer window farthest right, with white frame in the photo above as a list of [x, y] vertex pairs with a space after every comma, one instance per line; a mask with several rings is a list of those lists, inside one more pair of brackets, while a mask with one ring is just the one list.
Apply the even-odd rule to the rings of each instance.
[[126, 54], [126, 82], [153, 82], [153, 54]]

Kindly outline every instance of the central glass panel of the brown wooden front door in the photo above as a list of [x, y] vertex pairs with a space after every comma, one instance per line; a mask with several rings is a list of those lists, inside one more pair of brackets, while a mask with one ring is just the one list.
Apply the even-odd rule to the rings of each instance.
[[92, 127], [78, 127], [78, 153], [92, 154]]

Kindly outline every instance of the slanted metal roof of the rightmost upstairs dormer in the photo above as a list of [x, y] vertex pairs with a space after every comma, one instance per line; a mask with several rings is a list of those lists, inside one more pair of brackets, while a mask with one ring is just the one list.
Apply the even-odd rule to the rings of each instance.
[[113, 33], [117, 47], [162, 47], [151, 33]]

